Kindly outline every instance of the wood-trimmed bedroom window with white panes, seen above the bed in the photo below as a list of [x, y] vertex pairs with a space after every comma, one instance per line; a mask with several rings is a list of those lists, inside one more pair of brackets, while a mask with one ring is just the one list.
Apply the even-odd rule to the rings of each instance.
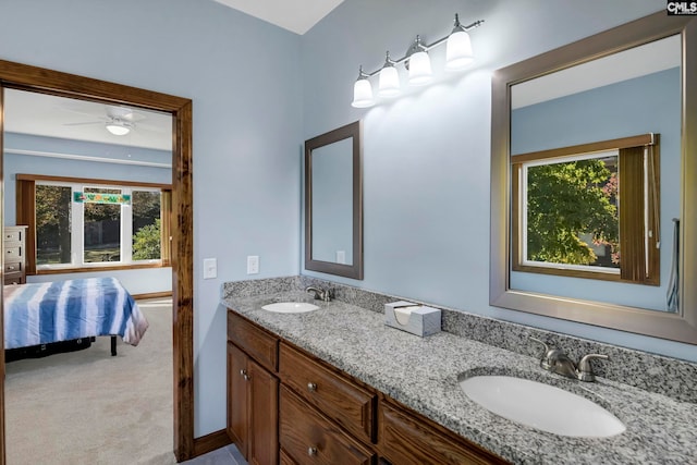
[[17, 175], [28, 273], [169, 266], [169, 186], [117, 183]]

